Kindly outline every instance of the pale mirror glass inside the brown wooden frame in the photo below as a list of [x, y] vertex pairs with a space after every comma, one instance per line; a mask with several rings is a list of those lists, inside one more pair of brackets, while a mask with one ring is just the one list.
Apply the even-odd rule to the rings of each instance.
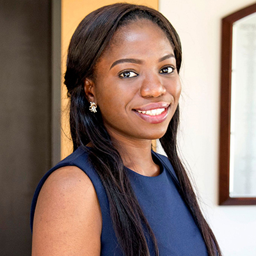
[[256, 197], [256, 13], [232, 30], [230, 196]]

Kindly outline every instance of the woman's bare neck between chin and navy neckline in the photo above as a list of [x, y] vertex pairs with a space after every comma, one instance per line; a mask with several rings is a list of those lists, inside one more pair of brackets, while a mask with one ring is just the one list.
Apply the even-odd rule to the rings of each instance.
[[151, 154], [151, 140], [132, 140], [111, 136], [124, 165], [144, 176], [157, 176], [160, 173], [159, 166], [154, 163]]

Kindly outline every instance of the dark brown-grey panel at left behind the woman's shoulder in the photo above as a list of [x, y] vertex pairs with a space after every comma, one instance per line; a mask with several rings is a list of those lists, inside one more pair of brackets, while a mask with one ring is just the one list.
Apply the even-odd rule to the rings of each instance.
[[0, 0], [0, 255], [31, 255], [29, 211], [51, 166], [51, 1]]

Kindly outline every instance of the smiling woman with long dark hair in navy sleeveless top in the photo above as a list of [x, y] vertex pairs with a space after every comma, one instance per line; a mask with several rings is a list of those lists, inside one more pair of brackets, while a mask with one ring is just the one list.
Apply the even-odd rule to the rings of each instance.
[[82, 20], [65, 74], [74, 152], [36, 189], [33, 255], [221, 255], [177, 155], [180, 64], [156, 10], [120, 3]]

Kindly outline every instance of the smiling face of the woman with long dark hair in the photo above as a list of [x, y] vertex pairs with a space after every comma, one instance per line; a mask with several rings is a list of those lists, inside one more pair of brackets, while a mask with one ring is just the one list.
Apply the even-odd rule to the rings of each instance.
[[90, 100], [117, 140], [161, 138], [177, 108], [180, 79], [168, 38], [149, 20], [116, 31], [95, 68]]

